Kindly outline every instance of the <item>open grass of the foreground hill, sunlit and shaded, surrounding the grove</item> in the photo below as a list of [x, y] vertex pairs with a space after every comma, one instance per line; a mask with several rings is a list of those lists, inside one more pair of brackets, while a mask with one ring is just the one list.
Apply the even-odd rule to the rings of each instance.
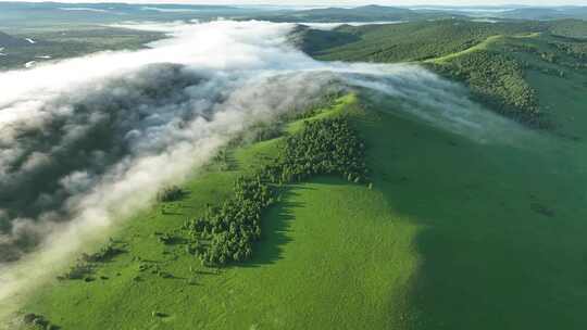
[[583, 329], [582, 79], [551, 88], [551, 76], [529, 76], [542, 105], [560, 107], [554, 134], [533, 145], [479, 144], [347, 97], [320, 116], [350, 113], [373, 190], [333, 177], [294, 185], [263, 216], [252, 262], [204, 268], [158, 233], [178, 234], [226, 199], [279, 139], [238, 149], [237, 170], [195, 176], [166, 215], [155, 205], [125, 223], [114, 239], [127, 252], [95, 281], [53, 280], [23, 312], [62, 329]]

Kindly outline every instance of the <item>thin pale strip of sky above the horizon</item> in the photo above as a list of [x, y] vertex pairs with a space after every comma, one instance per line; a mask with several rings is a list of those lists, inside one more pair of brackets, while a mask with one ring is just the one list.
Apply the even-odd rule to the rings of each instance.
[[[0, 0], [25, 1], [25, 0]], [[59, 0], [55, 0], [59, 1]], [[385, 5], [587, 5], [587, 0], [61, 0], [59, 2], [128, 2], [128, 3], [192, 3], [192, 4], [272, 4], [272, 5], [337, 5], [352, 7], [364, 4]]]

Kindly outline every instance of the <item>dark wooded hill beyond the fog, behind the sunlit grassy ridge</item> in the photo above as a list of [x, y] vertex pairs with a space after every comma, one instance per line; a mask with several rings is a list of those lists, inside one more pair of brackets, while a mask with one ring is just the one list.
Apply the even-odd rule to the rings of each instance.
[[[411, 62], [463, 51], [490, 36], [541, 31], [546, 26], [540, 22], [485, 24], [465, 20], [345, 25], [332, 31], [307, 30], [300, 47], [323, 60]], [[339, 41], [333, 45], [334, 39]]]

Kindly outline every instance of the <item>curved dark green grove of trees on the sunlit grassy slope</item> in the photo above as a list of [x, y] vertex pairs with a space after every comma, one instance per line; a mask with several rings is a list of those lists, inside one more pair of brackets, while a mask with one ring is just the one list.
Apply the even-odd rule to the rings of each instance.
[[344, 118], [305, 122], [300, 132], [285, 139], [273, 163], [237, 179], [230, 200], [188, 221], [193, 237], [189, 251], [205, 265], [249, 259], [261, 238], [261, 214], [275, 202], [278, 187], [320, 174], [366, 181], [364, 144]]

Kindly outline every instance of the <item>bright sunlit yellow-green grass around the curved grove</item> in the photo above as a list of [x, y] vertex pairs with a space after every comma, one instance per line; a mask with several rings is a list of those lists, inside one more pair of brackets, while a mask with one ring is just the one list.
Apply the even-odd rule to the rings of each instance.
[[[344, 101], [327, 115], [355, 102]], [[294, 123], [288, 130], [299, 127]], [[238, 150], [241, 170], [275, 154], [277, 143]], [[174, 231], [205, 203], [223, 200], [237, 173], [213, 172], [187, 182], [190, 194], [176, 206], [177, 215], [154, 208], [128, 221], [116, 236], [128, 243], [128, 253], [96, 274], [108, 280], [54, 281], [25, 309], [63, 329], [357, 329], [398, 322], [416, 267], [411, 238], [417, 228], [390, 211], [380, 192], [364, 186], [328, 177], [292, 186], [265, 215], [254, 259], [220, 274], [201, 268], [182, 246], [158, 241], [155, 231]], [[140, 272], [140, 264], [157, 264], [175, 278]], [[196, 284], [188, 284], [190, 267]], [[142, 280], [133, 280], [136, 276]], [[153, 310], [170, 316], [152, 317]]]

